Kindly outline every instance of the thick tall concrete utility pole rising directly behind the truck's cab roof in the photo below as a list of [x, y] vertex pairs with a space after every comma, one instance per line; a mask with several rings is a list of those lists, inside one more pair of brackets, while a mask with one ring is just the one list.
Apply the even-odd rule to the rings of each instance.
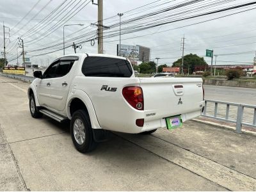
[[98, 53], [103, 54], [103, 1], [98, 0]]

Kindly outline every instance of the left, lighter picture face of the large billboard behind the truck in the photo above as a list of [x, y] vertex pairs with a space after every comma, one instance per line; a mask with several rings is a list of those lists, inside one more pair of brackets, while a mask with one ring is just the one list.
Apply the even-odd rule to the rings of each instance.
[[118, 46], [118, 52], [119, 56], [129, 58], [129, 60], [139, 60], [139, 53], [140, 53], [140, 47], [138, 45], [122, 45]]

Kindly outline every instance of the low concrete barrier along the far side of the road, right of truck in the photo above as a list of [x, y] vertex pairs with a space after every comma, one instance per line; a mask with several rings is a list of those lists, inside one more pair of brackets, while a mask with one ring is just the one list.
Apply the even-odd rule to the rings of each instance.
[[223, 79], [207, 79], [204, 84], [218, 85], [218, 86], [235, 86], [244, 88], [256, 88], [256, 82], [250, 81], [234, 81], [234, 80], [223, 80]]

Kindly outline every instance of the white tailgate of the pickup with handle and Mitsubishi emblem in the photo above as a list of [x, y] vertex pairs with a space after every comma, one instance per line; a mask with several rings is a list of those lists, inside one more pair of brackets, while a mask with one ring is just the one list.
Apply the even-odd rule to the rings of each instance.
[[146, 119], [154, 120], [200, 111], [201, 78], [140, 78]]

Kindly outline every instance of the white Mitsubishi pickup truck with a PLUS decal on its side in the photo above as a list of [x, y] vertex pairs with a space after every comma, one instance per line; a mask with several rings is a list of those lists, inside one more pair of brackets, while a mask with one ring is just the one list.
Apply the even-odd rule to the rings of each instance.
[[135, 77], [130, 61], [118, 56], [70, 54], [34, 76], [28, 89], [31, 116], [71, 120], [80, 152], [93, 150], [108, 131], [172, 129], [204, 109], [201, 78]]

